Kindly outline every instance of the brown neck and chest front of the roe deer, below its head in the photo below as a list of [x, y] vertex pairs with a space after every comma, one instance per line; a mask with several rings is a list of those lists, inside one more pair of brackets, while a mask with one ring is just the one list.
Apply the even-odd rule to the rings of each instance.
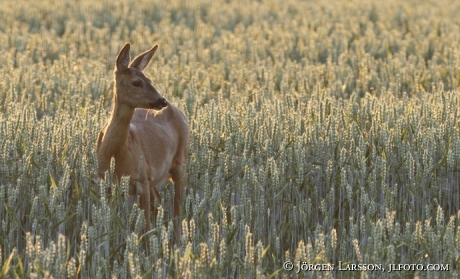
[[110, 157], [123, 149], [128, 140], [129, 124], [134, 115], [134, 109], [117, 102], [113, 102], [112, 115], [105, 130], [102, 144]]

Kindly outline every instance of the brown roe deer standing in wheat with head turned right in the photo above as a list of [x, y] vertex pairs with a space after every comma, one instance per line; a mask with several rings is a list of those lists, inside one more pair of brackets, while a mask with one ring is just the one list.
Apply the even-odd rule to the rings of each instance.
[[155, 197], [161, 202], [161, 189], [157, 187], [172, 179], [174, 234], [179, 243], [181, 170], [188, 154], [189, 129], [184, 114], [166, 101], [142, 73], [157, 48], [155, 45], [130, 62], [127, 43], [117, 56], [112, 114], [97, 139], [98, 176], [104, 179], [114, 157], [115, 179], [129, 176], [129, 195], [140, 196], [146, 231], [152, 229], [151, 203]]

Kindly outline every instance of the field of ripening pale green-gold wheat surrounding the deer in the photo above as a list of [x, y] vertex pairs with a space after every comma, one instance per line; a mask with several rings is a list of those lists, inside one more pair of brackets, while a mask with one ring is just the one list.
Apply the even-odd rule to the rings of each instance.
[[[457, 278], [460, 2], [318, 2], [2, 1], [0, 278]], [[171, 185], [142, 236], [96, 179], [128, 41], [189, 119], [180, 246]]]

